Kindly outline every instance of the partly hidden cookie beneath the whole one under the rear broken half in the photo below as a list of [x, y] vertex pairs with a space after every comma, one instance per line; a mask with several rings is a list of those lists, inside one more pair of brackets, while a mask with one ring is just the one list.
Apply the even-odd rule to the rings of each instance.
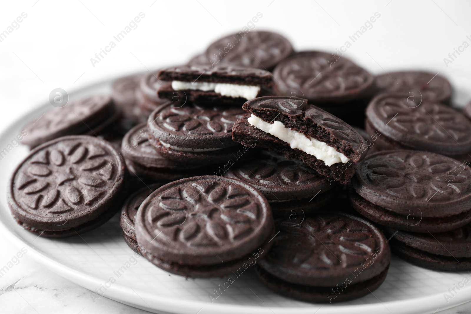
[[123, 137], [120, 153], [131, 174], [160, 182], [175, 181], [201, 174], [201, 167], [163, 157], [149, 143], [147, 124], [141, 123]]

